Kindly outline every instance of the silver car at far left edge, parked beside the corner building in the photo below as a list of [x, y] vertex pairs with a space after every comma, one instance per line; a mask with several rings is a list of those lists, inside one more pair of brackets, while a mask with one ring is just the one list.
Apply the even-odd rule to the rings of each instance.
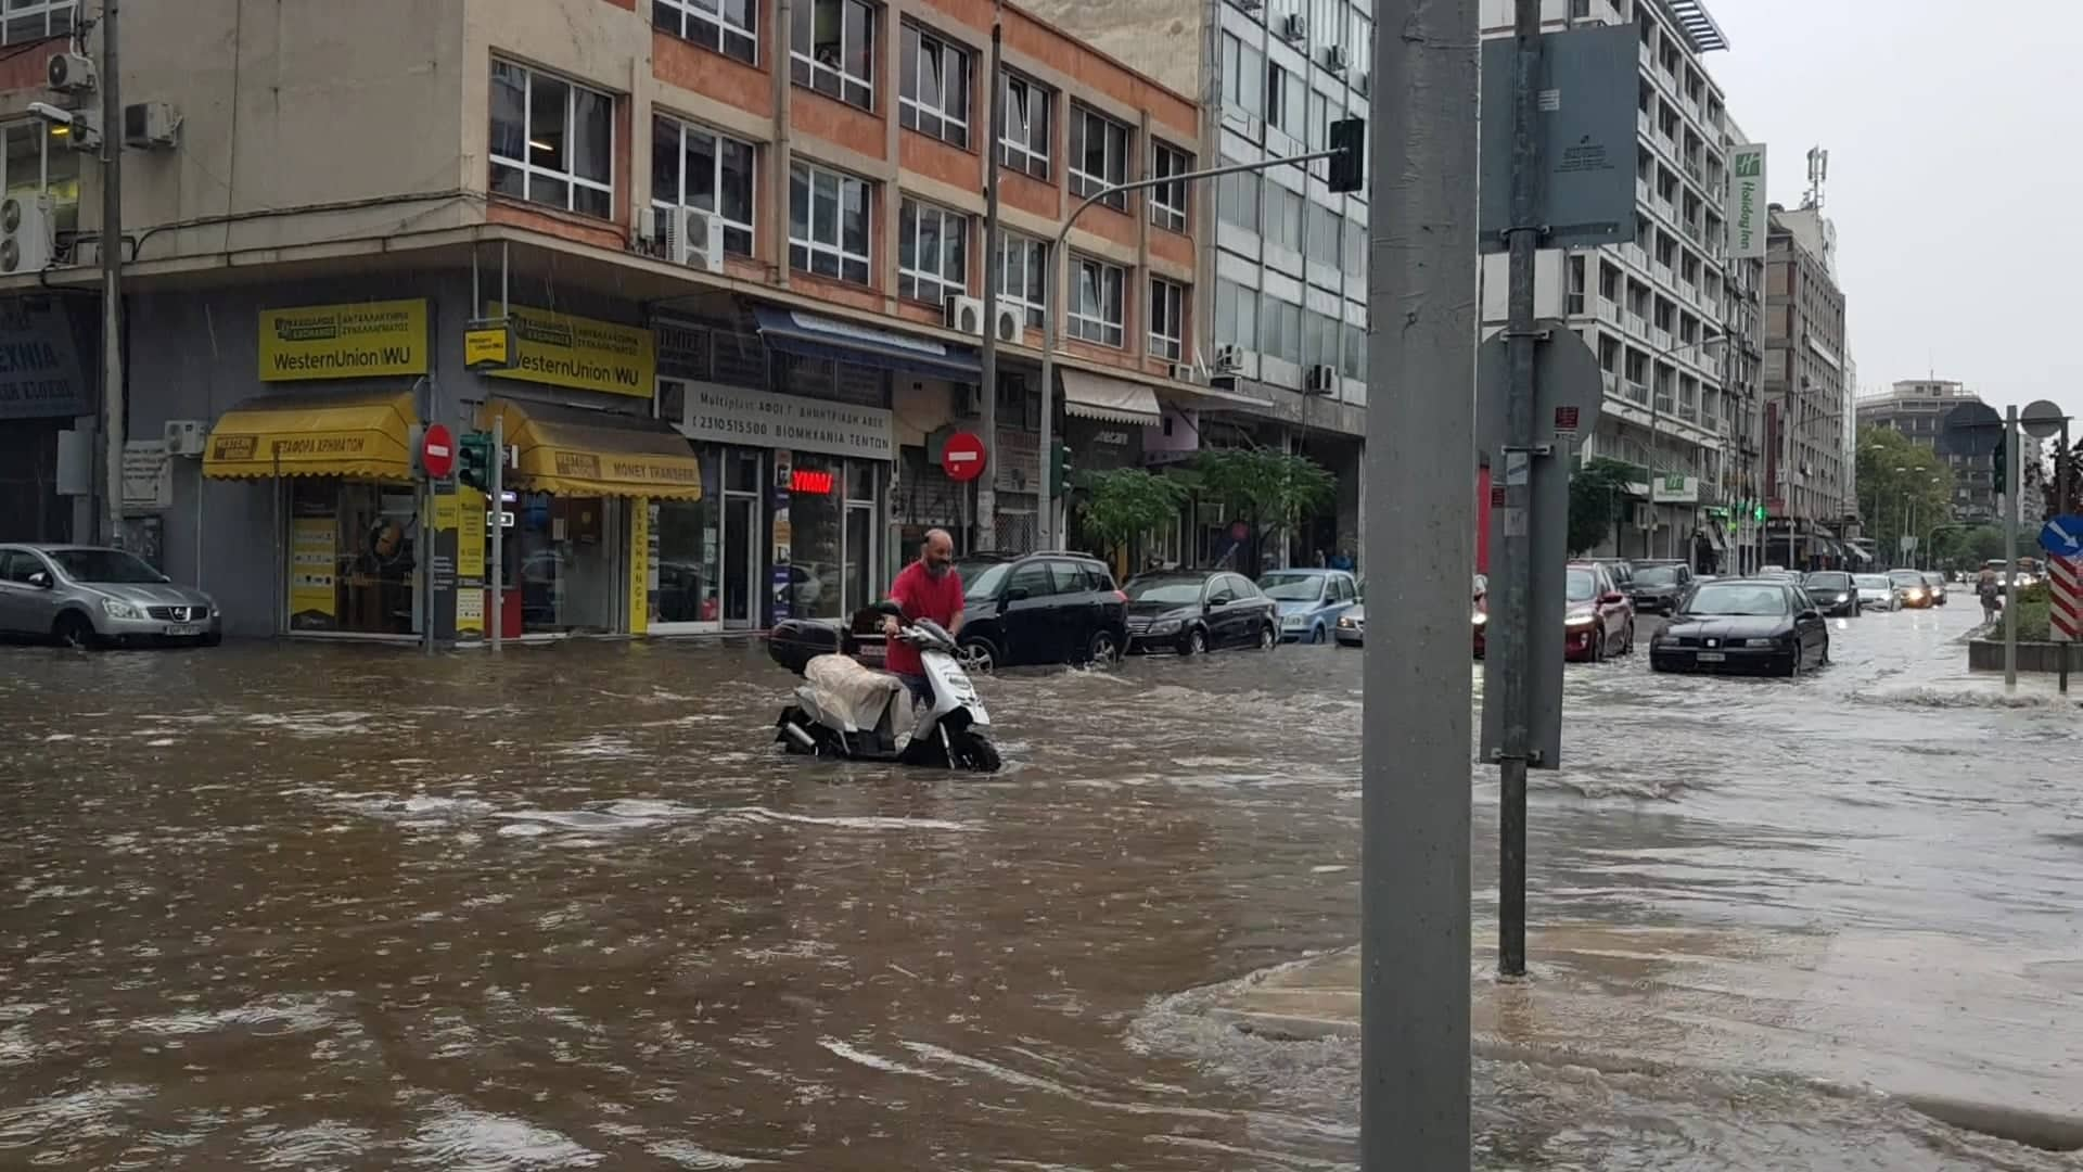
[[108, 642], [223, 640], [223, 613], [202, 590], [119, 548], [0, 544], [0, 634]]

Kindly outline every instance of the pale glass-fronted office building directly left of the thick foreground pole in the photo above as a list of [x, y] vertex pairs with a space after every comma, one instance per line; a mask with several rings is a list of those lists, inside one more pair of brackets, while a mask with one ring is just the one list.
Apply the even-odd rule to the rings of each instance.
[[[1371, 0], [1031, 0], [1033, 13], [1202, 102], [1189, 154], [1164, 165], [1248, 163], [1321, 150], [1329, 125], [1364, 117]], [[1219, 386], [1258, 398], [1202, 413], [1214, 442], [1302, 450], [1339, 480], [1333, 515], [1296, 534], [1296, 557], [1358, 553], [1366, 407], [1366, 194], [1333, 194], [1327, 165], [1229, 175], [1189, 198], [1202, 223], [1212, 313], [1194, 350]], [[1204, 526], [1208, 530], [1208, 526]]]

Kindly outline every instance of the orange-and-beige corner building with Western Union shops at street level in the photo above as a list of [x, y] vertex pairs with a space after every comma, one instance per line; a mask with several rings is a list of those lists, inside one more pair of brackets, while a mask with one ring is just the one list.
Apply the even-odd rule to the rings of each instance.
[[[100, 484], [56, 475], [102, 402], [98, 165], [25, 117], [98, 100], [46, 88], [52, 54], [96, 52], [67, 35], [90, 8], [0, 25], [27, 46], [0, 60], [8, 192], [33, 173], [56, 217], [50, 265], [0, 277], [0, 329], [62, 365], [42, 402], [0, 394], [6, 453], [54, 469], [0, 488], [0, 523], [46, 517], [25, 536], [90, 536]], [[125, 150], [125, 540], [240, 634], [467, 634], [479, 582], [546, 638], [842, 615], [927, 526], [1031, 540], [1044, 409], [1106, 467], [1256, 402], [1175, 377], [1206, 336], [1198, 192], [1048, 246], [1087, 192], [1183, 169], [1198, 104], [1017, 8], [187, 0], [127, 8], [123, 40], [125, 100], [177, 121]], [[1000, 530], [973, 534], [939, 450], [979, 428], [992, 152]], [[423, 498], [421, 428], [494, 419], [512, 498]], [[487, 513], [506, 565], [481, 565]]]

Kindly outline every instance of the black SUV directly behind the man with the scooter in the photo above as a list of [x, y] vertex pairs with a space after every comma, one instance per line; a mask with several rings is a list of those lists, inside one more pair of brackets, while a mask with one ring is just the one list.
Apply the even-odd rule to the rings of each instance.
[[977, 555], [962, 576], [962, 667], [1112, 663], [1129, 644], [1127, 594], [1081, 553]]

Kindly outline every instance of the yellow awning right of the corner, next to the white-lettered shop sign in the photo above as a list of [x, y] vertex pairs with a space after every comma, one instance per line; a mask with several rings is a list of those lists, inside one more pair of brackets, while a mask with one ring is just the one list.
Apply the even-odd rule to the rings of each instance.
[[506, 419], [506, 442], [519, 448], [515, 488], [560, 496], [702, 498], [702, 463], [671, 423], [515, 398], [494, 398], [485, 409]]

